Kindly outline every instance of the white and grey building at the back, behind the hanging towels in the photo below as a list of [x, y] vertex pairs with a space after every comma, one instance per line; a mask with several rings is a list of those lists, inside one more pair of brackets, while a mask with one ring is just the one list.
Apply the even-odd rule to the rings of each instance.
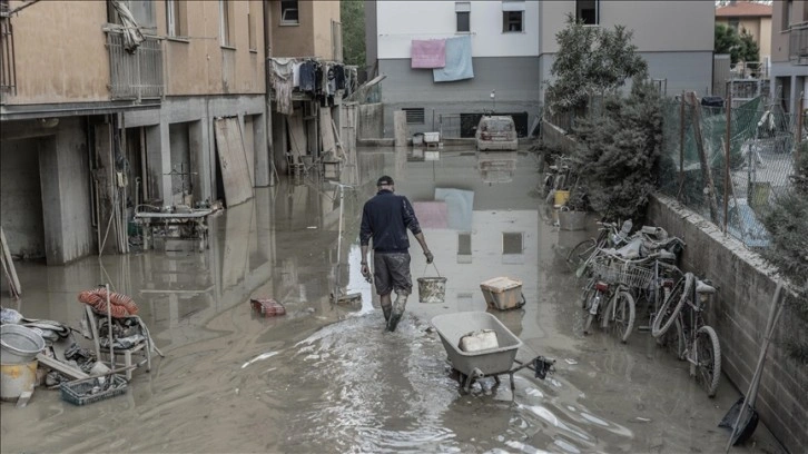
[[[668, 93], [711, 86], [715, 4], [668, 1], [375, 1], [366, 3], [367, 67], [387, 76], [386, 136], [392, 111], [405, 109], [411, 131], [470, 137], [486, 110], [514, 115], [518, 129], [541, 111], [544, 81], [559, 51], [555, 34], [568, 14], [592, 27], [622, 24]], [[682, 32], [687, 29], [687, 32]], [[414, 41], [471, 41], [473, 77], [435, 81], [412, 68]], [[449, 53], [446, 55], [449, 58]]]

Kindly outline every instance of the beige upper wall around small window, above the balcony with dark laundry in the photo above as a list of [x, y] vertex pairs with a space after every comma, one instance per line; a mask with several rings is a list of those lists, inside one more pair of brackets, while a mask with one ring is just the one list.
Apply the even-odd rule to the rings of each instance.
[[[313, 1], [298, 1], [298, 24], [280, 23], [280, 1], [269, 2], [272, 7], [272, 56], [315, 57], [314, 55], [314, 8]], [[319, 2], [316, 2], [319, 6]], [[331, 53], [331, 52], [329, 52]], [[319, 56], [323, 57], [323, 56]]]

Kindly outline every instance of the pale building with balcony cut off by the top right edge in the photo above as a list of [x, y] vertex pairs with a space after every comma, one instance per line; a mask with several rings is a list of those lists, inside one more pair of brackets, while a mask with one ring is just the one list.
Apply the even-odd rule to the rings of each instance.
[[771, 97], [796, 112], [808, 106], [808, 2], [777, 0], [771, 12]]

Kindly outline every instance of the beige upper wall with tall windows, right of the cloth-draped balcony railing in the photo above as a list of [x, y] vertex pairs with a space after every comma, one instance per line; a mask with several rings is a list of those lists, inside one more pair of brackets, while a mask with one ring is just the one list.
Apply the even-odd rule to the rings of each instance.
[[[219, 37], [220, 11], [217, 1], [188, 1], [186, 38], [164, 41], [166, 96], [206, 93], [262, 93], [264, 80], [264, 20], [262, 2], [229, 2], [233, 42], [223, 47]], [[252, 4], [252, 8], [250, 8]], [[279, 7], [278, 7], [279, 8]], [[248, 14], [258, 14], [255, 24], [256, 49], [249, 49]], [[157, 29], [167, 34], [166, 3], [155, 2]]]

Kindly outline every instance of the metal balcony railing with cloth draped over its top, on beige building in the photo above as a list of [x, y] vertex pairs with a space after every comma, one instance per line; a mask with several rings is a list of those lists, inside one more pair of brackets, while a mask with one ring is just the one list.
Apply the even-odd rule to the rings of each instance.
[[112, 99], [160, 98], [162, 48], [160, 40], [146, 37], [134, 52], [124, 49], [124, 34], [107, 32], [109, 50], [109, 91]]

